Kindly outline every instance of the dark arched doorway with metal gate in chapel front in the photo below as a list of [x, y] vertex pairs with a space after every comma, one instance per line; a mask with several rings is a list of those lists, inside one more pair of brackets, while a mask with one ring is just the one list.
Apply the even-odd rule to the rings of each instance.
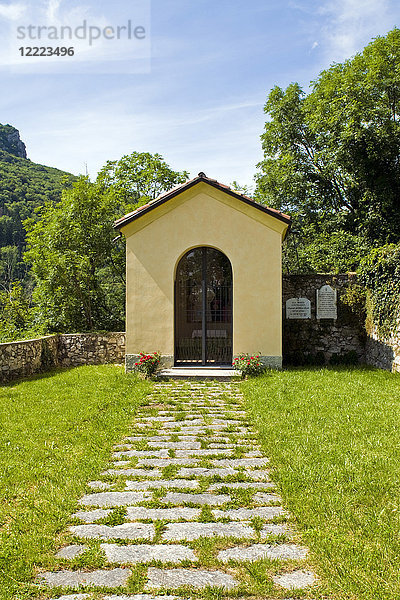
[[175, 364], [232, 364], [232, 266], [215, 248], [193, 248], [175, 279]]

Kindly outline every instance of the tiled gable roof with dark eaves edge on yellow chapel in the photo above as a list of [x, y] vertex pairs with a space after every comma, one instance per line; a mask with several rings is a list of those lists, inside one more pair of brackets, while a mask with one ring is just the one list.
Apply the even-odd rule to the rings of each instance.
[[171, 198], [175, 198], [175, 196], [177, 196], [178, 194], [185, 192], [186, 190], [190, 189], [191, 187], [197, 185], [198, 183], [206, 183], [206, 184], [210, 185], [211, 187], [214, 187], [217, 190], [220, 190], [220, 191], [224, 192], [225, 194], [229, 194], [229, 196], [232, 196], [233, 198], [236, 198], [237, 200], [244, 202], [245, 204], [254, 206], [254, 208], [257, 208], [258, 210], [270, 215], [271, 217], [274, 217], [275, 219], [278, 219], [279, 221], [286, 223], [288, 225], [288, 227], [290, 228], [291, 218], [288, 215], [285, 215], [284, 213], [280, 212], [279, 210], [276, 210], [275, 208], [268, 208], [267, 206], [259, 204], [258, 202], [256, 202], [252, 198], [250, 198], [249, 196], [245, 196], [244, 194], [238, 194], [237, 192], [232, 190], [229, 186], [224, 185], [223, 183], [219, 183], [219, 181], [217, 181], [216, 179], [210, 179], [203, 172], [200, 172], [197, 175], [197, 177], [194, 177], [193, 179], [189, 179], [189, 181], [186, 181], [185, 183], [182, 183], [181, 185], [178, 185], [178, 186], [172, 188], [168, 192], [164, 192], [163, 194], [158, 196], [158, 198], [156, 198], [155, 200], [151, 200], [151, 202], [148, 202], [147, 204], [144, 204], [143, 206], [139, 206], [139, 208], [137, 208], [133, 212], [128, 213], [127, 215], [121, 217], [120, 219], [117, 219], [114, 222], [114, 228], [118, 229], [118, 230], [121, 229], [121, 227], [124, 227], [125, 225], [128, 225], [128, 223], [131, 223], [132, 221], [139, 219], [141, 216], [147, 214], [148, 212], [150, 212], [157, 206], [160, 206], [160, 205], [164, 204], [165, 202], [168, 202], [168, 200], [171, 200]]

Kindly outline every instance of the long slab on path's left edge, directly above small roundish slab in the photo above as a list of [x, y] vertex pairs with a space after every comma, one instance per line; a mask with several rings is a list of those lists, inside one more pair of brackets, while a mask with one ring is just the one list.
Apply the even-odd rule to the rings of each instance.
[[123, 523], [110, 527], [108, 525], [73, 525], [70, 532], [84, 539], [99, 540], [152, 540], [155, 535], [151, 523]]

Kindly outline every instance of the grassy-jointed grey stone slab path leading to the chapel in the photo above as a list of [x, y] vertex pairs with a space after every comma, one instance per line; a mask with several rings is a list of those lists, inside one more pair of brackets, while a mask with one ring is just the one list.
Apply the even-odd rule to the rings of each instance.
[[[72, 515], [54, 598], [296, 598], [316, 578], [237, 383], [158, 383]], [[295, 592], [293, 591], [295, 590]]]

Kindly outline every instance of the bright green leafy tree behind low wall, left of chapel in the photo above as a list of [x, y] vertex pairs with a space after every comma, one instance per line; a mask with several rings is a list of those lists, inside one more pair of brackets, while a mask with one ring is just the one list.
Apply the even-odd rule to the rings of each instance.
[[117, 210], [112, 193], [80, 177], [60, 202], [45, 204], [39, 220], [25, 222], [36, 320], [48, 331], [123, 328], [124, 249], [112, 243]]

